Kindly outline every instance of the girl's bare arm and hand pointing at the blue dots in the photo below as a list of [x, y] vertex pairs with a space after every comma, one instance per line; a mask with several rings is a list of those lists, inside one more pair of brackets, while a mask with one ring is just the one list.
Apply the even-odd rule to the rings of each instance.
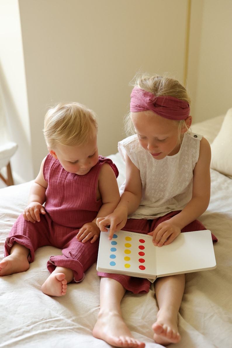
[[115, 230], [123, 228], [127, 222], [127, 216], [133, 213], [139, 206], [142, 198], [142, 183], [139, 169], [131, 162], [126, 154], [126, 184], [121, 199], [113, 213], [97, 219], [97, 225], [101, 231], [106, 231], [110, 225], [109, 239], [112, 239]]

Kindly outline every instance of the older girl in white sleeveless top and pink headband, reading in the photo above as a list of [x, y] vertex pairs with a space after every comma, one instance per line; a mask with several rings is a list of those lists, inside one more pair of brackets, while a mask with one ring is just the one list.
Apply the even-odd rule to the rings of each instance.
[[[115, 230], [123, 229], [153, 235], [154, 245], [165, 247], [181, 232], [205, 229], [196, 219], [210, 198], [210, 145], [188, 131], [192, 122], [189, 104], [186, 89], [175, 79], [158, 75], [137, 79], [126, 121], [136, 134], [119, 142], [126, 162], [124, 192], [114, 212], [97, 219], [101, 231], [110, 225], [109, 239]], [[93, 335], [112, 346], [145, 347], [123, 322], [120, 302], [126, 290], [147, 293], [149, 280], [98, 275], [102, 277], [101, 308]], [[158, 278], [154, 287], [159, 307], [152, 325], [154, 341], [177, 343], [185, 275]]]

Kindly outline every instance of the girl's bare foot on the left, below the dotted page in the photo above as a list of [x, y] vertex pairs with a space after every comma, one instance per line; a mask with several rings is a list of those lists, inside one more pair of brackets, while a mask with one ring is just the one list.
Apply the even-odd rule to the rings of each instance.
[[93, 336], [114, 347], [144, 348], [145, 343], [136, 340], [118, 313], [99, 313]]

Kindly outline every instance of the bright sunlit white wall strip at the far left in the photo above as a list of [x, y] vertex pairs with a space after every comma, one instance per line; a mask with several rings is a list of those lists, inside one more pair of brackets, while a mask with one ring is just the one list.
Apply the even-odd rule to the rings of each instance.
[[7, 137], [19, 145], [11, 160], [14, 179], [16, 182], [31, 180], [34, 173], [30, 119], [17, 0], [0, 0], [0, 87], [8, 123]]

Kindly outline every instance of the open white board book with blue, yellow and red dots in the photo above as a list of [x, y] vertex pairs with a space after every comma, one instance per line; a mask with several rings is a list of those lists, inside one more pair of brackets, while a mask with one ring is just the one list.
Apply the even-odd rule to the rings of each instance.
[[168, 245], [154, 246], [152, 236], [117, 231], [112, 240], [101, 232], [97, 270], [156, 279], [216, 267], [209, 230], [181, 233]]

